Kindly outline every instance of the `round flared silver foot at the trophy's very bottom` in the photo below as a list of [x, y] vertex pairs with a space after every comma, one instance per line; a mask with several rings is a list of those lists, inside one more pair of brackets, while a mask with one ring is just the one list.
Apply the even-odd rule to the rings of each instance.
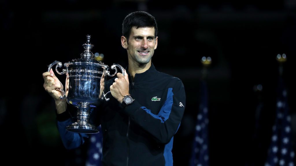
[[75, 133], [85, 133], [85, 134], [95, 134], [99, 133], [99, 130], [91, 124], [81, 125], [77, 122], [66, 127], [67, 131], [75, 132]]

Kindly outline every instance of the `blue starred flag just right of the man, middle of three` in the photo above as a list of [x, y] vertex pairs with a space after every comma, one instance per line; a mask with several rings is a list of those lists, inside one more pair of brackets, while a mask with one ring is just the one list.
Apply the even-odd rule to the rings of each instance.
[[195, 126], [195, 136], [193, 141], [192, 156], [190, 166], [208, 166], [208, 97], [207, 85], [205, 81], [200, 84], [200, 105]]

